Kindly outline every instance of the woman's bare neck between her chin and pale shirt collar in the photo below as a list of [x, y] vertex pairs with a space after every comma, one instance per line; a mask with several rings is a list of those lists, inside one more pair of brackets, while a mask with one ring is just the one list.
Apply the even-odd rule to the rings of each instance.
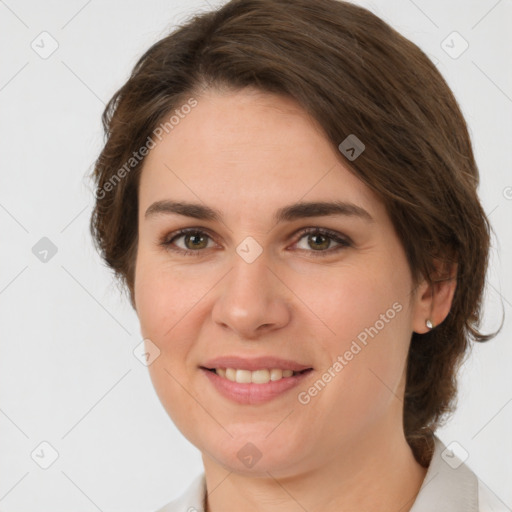
[[287, 476], [242, 475], [203, 455], [206, 512], [407, 512], [427, 469], [416, 462], [401, 429], [394, 432], [364, 433], [332, 459]]

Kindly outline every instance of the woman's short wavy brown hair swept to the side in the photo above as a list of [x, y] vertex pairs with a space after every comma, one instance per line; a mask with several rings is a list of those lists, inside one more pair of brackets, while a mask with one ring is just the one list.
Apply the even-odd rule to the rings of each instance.
[[413, 333], [408, 355], [404, 432], [427, 465], [432, 433], [453, 411], [470, 339], [496, 335], [478, 331], [490, 225], [448, 85], [415, 44], [368, 10], [336, 0], [233, 0], [155, 43], [105, 108], [106, 143], [92, 174], [91, 233], [134, 307], [143, 159], [130, 169], [126, 162], [169, 112], [205, 87], [291, 97], [336, 147], [355, 134], [366, 148], [346, 166], [384, 202], [415, 282], [446, 278], [436, 273], [436, 258], [458, 264], [450, 313], [430, 332]]

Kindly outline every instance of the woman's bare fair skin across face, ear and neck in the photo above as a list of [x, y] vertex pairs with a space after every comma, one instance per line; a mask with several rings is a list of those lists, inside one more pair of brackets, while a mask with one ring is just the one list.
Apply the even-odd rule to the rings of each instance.
[[[292, 99], [251, 89], [197, 99], [144, 163], [134, 297], [141, 332], [160, 350], [149, 366], [156, 392], [202, 453], [207, 510], [409, 510], [426, 469], [402, 426], [407, 351], [413, 331], [428, 330], [427, 318], [444, 320], [454, 282], [413, 282], [383, 204]], [[165, 199], [206, 204], [223, 221], [145, 218]], [[272, 220], [299, 200], [336, 199], [363, 207], [373, 222]], [[189, 227], [206, 234], [204, 244], [197, 249], [181, 236], [174, 247], [201, 254], [160, 244]], [[335, 251], [334, 240], [300, 233], [308, 227], [334, 230], [353, 245]], [[263, 250], [252, 263], [236, 252], [248, 236]], [[298, 393], [394, 303], [401, 311], [308, 404], [299, 403]], [[298, 389], [240, 405], [199, 369], [231, 354], [278, 356], [314, 370]], [[248, 442], [261, 453], [251, 468], [237, 456]]]

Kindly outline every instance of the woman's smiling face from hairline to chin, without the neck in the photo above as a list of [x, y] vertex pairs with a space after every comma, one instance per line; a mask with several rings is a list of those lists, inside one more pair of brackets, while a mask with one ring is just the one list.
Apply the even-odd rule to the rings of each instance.
[[197, 101], [150, 151], [139, 189], [135, 304], [160, 351], [149, 370], [163, 406], [203, 457], [253, 474], [401, 433], [425, 318], [383, 204], [291, 99]]

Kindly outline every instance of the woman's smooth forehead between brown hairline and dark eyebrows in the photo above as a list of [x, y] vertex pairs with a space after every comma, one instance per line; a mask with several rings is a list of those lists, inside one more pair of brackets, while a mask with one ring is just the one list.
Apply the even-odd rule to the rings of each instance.
[[155, 142], [141, 176], [141, 209], [170, 197], [239, 214], [299, 200], [378, 208], [376, 196], [290, 98], [209, 92]]

